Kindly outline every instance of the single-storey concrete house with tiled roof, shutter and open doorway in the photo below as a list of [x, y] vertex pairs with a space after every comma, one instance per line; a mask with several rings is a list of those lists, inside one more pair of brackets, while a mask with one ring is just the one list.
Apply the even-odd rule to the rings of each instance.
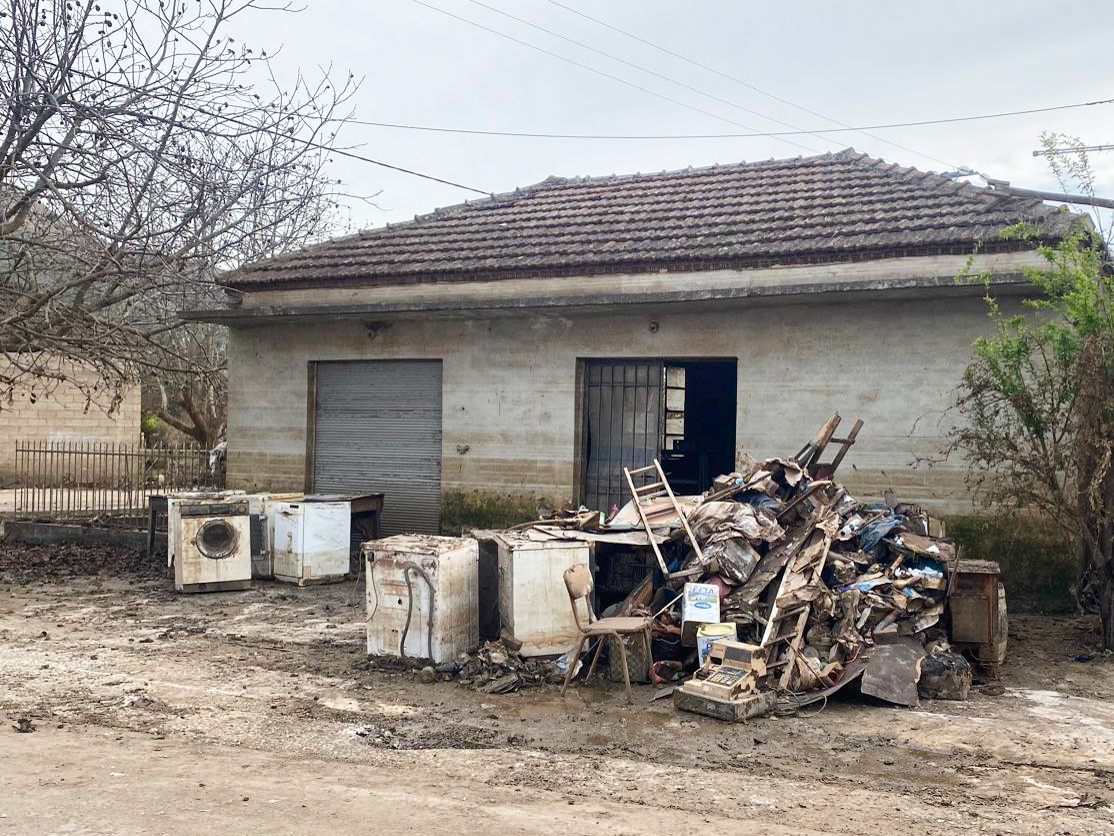
[[[1072, 215], [853, 150], [557, 178], [225, 275], [229, 486], [387, 493], [384, 529], [678, 493], [866, 422], [841, 479], [969, 508], [941, 446], [988, 328]], [[977, 250], [977, 252], [976, 252]], [[846, 425], [844, 425], [846, 426]]]

